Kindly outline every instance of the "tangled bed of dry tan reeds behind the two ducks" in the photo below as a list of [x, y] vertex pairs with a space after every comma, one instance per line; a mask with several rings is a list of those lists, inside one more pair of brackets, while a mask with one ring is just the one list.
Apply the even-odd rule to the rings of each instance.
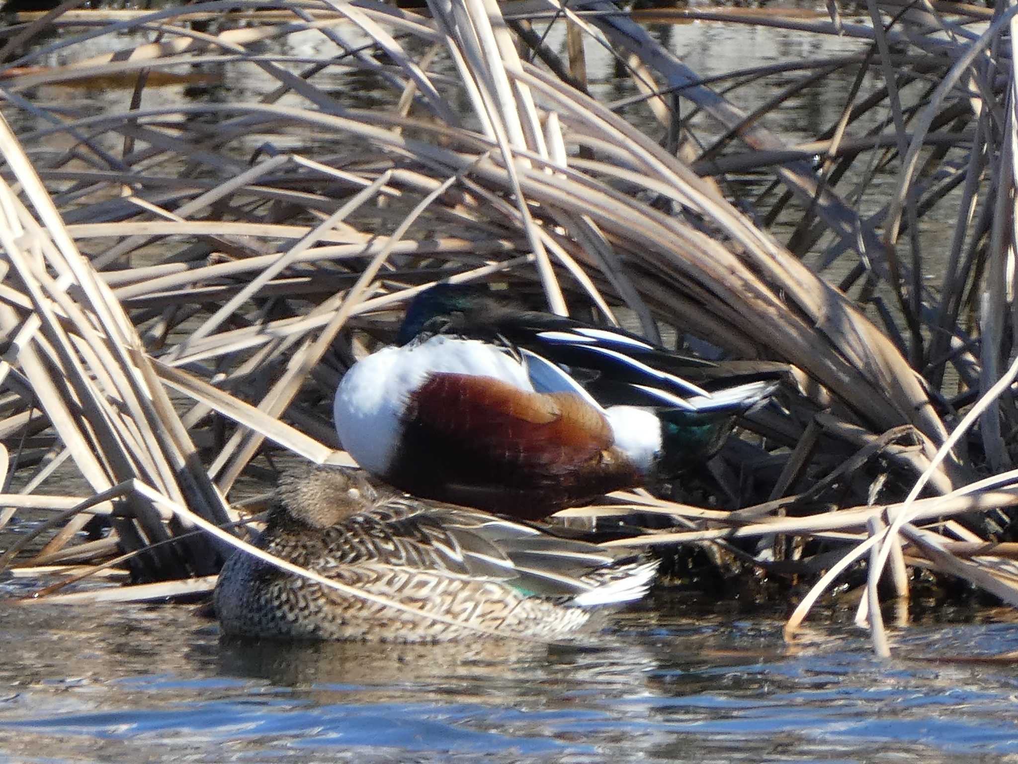
[[[342, 462], [342, 371], [450, 278], [609, 323], [624, 306], [652, 339], [792, 370], [703, 486], [567, 510], [664, 519], [608, 543], [814, 583], [789, 636], [864, 559], [858, 619], [882, 653], [885, 569], [894, 597], [932, 569], [1018, 604], [1013, 8], [71, 5], [0, 32], [0, 528], [32, 529], [0, 565], [144, 583], [49, 599], [207, 589], [243, 536], [238, 481], [268, 488], [288, 454]], [[719, 15], [859, 46], [706, 81], [641, 25]], [[632, 97], [591, 95], [593, 51]], [[846, 73], [812, 141], [767, 127]], [[243, 89], [216, 90], [224, 75]], [[210, 81], [207, 100], [159, 96]], [[120, 97], [80, 113], [59, 98], [75, 84]], [[762, 190], [733, 199], [745, 172]], [[947, 215], [931, 279], [919, 226]], [[767, 232], [781, 219], [785, 242]], [[84, 541], [97, 515], [112, 532]]]

